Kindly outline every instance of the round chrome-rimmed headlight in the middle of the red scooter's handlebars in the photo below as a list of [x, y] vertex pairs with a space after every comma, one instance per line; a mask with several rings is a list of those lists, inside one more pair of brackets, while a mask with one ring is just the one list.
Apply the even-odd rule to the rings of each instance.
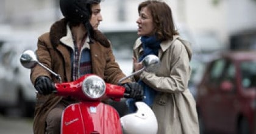
[[83, 93], [93, 99], [98, 99], [105, 93], [105, 82], [101, 77], [88, 76], [83, 81], [82, 91]]

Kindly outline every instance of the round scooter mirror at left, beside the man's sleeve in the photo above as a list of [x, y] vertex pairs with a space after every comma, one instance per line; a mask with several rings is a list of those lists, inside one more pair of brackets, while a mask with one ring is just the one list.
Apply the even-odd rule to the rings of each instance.
[[34, 68], [35, 65], [38, 64], [37, 56], [34, 51], [31, 50], [24, 51], [23, 54], [21, 54], [20, 62], [24, 68], [28, 69]]

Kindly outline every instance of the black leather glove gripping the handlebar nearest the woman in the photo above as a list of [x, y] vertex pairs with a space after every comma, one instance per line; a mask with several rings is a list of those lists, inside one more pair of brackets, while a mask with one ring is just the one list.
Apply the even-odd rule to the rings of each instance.
[[131, 83], [124, 83], [123, 84], [124, 88], [126, 88], [126, 93], [127, 95], [124, 97], [128, 98], [134, 98], [137, 101], [141, 101], [143, 99], [143, 88], [140, 84], [136, 82], [131, 82]]

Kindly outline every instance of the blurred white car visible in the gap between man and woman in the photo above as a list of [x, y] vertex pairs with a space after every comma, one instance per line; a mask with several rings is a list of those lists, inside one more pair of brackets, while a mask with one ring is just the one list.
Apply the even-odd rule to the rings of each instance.
[[138, 38], [135, 23], [101, 24], [99, 29], [110, 40], [113, 54], [124, 74], [132, 72], [132, 47]]

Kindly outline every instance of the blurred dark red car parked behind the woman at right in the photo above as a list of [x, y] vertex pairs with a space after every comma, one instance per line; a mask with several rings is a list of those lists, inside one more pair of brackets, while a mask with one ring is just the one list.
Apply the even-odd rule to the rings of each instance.
[[256, 51], [209, 62], [196, 101], [201, 133], [256, 133]]

